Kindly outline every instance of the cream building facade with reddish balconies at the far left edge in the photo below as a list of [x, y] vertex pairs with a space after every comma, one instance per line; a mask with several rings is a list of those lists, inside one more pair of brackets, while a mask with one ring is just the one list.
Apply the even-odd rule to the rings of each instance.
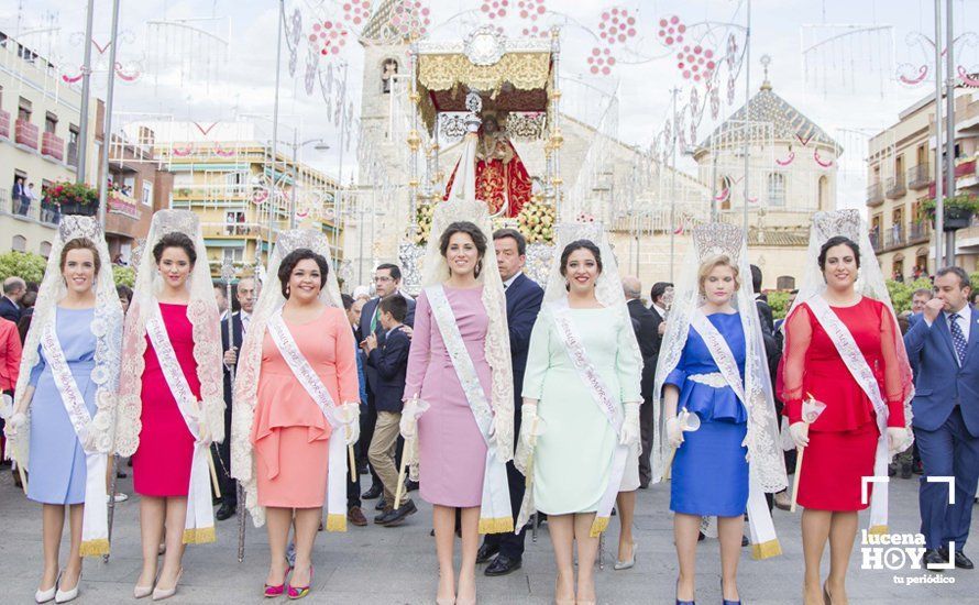
[[78, 88], [62, 81], [47, 59], [0, 32], [0, 251], [47, 256], [58, 213], [46, 190], [76, 180], [82, 151], [84, 180], [96, 183], [100, 102], [89, 108], [92, 128], [80, 141]]

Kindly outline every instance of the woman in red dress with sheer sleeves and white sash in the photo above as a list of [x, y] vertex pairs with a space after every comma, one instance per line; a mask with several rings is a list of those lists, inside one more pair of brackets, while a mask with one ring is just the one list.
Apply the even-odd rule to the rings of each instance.
[[[820, 220], [814, 219], [814, 238]], [[860, 249], [853, 240], [842, 235], [825, 239], [818, 254], [825, 286], [816, 287], [805, 299], [800, 297], [785, 322], [779, 391], [792, 439], [798, 448], [805, 448], [796, 497], [805, 507], [806, 605], [846, 603], [857, 512], [868, 506], [861, 502], [861, 477], [880, 475], [881, 465], [886, 470], [889, 461], [888, 451], [903, 446], [906, 438], [908, 356], [889, 301], [855, 289], [860, 261]], [[869, 262], [876, 260], [870, 256]], [[810, 425], [803, 421], [803, 402], [811, 398], [826, 407]], [[871, 508], [871, 525], [887, 522], [886, 502], [878, 503], [882, 517]], [[871, 527], [875, 530], [883, 528]], [[820, 563], [827, 539], [829, 575], [821, 586]]]

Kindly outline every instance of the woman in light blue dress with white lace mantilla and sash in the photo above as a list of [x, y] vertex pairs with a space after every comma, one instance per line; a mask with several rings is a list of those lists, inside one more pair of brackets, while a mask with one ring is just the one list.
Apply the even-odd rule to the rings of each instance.
[[[109, 551], [106, 470], [122, 307], [108, 261], [98, 223], [64, 217], [38, 290], [8, 425], [13, 457], [30, 471], [28, 498], [43, 509], [37, 603], [77, 597], [81, 558]], [[70, 553], [62, 569], [66, 512]]]

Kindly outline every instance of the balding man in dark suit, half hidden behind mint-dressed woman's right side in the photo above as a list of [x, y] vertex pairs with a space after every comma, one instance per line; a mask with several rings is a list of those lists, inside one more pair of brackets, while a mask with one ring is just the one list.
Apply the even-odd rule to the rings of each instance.
[[638, 277], [627, 276], [623, 278], [623, 293], [626, 295], [626, 305], [634, 324], [638, 324], [636, 339], [639, 341], [639, 352], [642, 353], [642, 406], [639, 408], [639, 429], [641, 432], [642, 450], [639, 452], [639, 487], [646, 490], [652, 481], [652, 469], [649, 464], [649, 453], [652, 451], [652, 387], [656, 374], [656, 362], [659, 355], [660, 336], [658, 326], [661, 322], [646, 308], [642, 300], [642, 284]]

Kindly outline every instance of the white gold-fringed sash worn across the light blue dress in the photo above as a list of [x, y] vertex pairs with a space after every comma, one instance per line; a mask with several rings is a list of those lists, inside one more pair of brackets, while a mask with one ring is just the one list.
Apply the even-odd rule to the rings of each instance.
[[[51, 367], [54, 384], [62, 396], [62, 404], [85, 448], [91, 415], [85, 405], [85, 397], [78, 389], [75, 376], [68, 367], [65, 352], [57, 337], [57, 306], [52, 310], [51, 321], [41, 334], [44, 359]], [[109, 517], [106, 503], [106, 465], [108, 457], [96, 450], [85, 450], [85, 508], [81, 516], [81, 554], [97, 557], [109, 553]]]

